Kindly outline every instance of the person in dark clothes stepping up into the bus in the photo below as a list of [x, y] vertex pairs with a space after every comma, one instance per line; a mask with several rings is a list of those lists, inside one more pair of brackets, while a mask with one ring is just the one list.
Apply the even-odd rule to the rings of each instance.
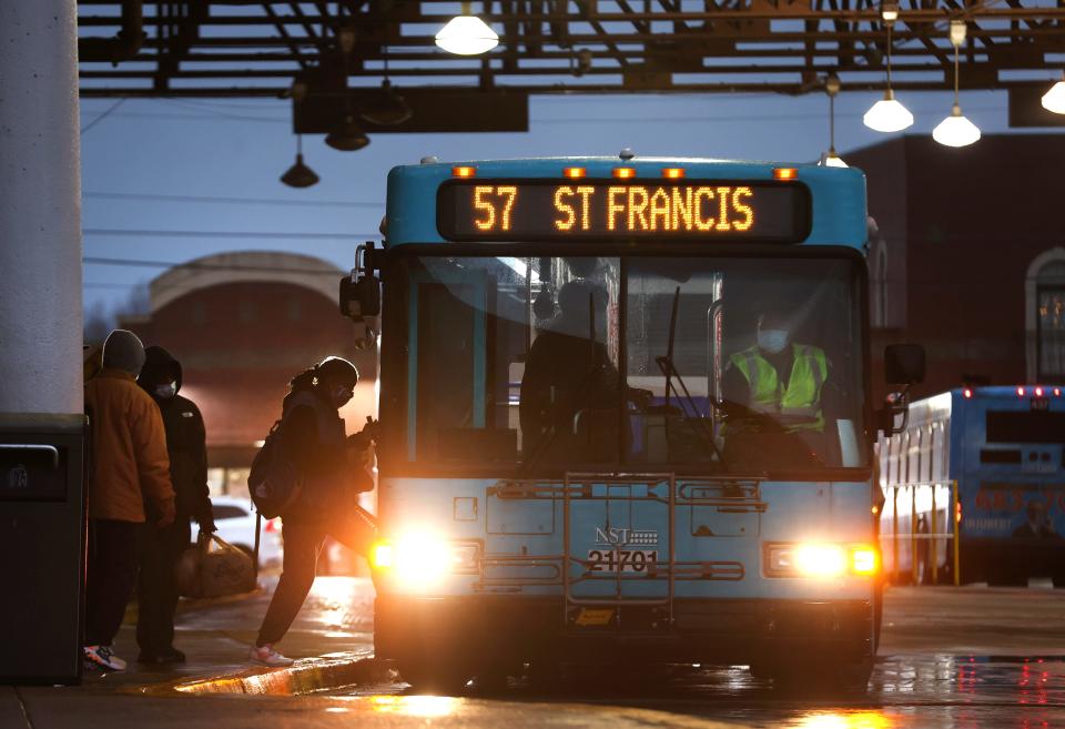
[[377, 535], [373, 517], [358, 506], [358, 493], [374, 487], [358, 458], [369, 445], [371, 431], [346, 437], [337, 414], [357, 383], [358, 369], [341, 357], [326, 357], [290, 383], [280, 435], [284, 453], [303, 476], [303, 488], [281, 514], [284, 569], [248, 655], [254, 664], [293, 662], [274, 644], [288, 631], [311, 591], [326, 537], [368, 556]]

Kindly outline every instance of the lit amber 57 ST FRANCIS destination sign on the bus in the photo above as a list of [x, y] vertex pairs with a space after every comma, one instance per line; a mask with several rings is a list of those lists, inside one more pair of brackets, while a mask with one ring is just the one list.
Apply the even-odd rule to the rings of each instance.
[[455, 180], [439, 189], [437, 227], [453, 241], [794, 243], [810, 232], [810, 193], [769, 181]]

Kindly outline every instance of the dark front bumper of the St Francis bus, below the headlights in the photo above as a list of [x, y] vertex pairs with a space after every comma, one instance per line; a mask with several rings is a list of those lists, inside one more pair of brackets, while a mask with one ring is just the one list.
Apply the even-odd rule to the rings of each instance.
[[[797, 651], [841, 661], [874, 654], [870, 600], [677, 599], [617, 612], [564, 611], [559, 597], [379, 596], [378, 658], [444, 652], [463, 662], [559, 660], [752, 664]], [[564, 617], [565, 616], [565, 617]]]

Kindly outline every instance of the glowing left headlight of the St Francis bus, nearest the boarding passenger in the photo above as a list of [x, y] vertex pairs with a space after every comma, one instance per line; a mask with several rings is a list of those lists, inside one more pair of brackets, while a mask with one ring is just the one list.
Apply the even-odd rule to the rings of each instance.
[[453, 541], [426, 533], [409, 533], [374, 545], [374, 569], [409, 585], [432, 585], [448, 574], [476, 574], [480, 545]]

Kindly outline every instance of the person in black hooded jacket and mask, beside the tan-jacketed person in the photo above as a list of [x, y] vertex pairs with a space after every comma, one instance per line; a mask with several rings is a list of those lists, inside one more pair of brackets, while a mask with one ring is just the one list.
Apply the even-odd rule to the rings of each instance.
[[159, 527], [149, 520], [139, 541], [141, 571], [138, 578], [138, 661], [183, 664], [185, 655], [174, 648], [174, 610], [178, 580], [174, 566], [189, 546], [195, 517], [201, 534], [215, 530], [207, 489], [206, 431], [200, 408], [178, 394], [181, 363], [158, 346], [144, 350], [144, 366], [138, 383], [159, 405], [166, 429], [170, 479], [174, 485], [176, 518]]

